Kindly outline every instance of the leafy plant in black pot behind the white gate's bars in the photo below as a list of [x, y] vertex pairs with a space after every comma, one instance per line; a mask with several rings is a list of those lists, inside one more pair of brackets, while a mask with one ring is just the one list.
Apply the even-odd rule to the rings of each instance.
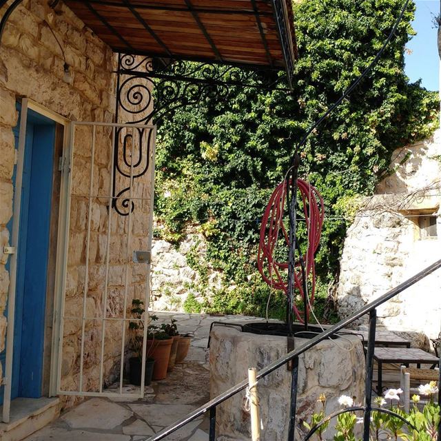
[[[130, 312], [136, 319], [129, 322], [130, 330], [130, 349], [132, 350], [132, 357], [129, 359], [129, 378], [130, 383], [136, 386], [141, 385], [141, 365], [143, 361], [143, 338], [144, 338], [144, 322], [142, 316], [145, 312], [143, 308], [144, 302], [138, 298], [132, 300], [132, 309]], [[158, 320], [158, 317], [151, 316], [150, 322]], [[148, 328], [148, 327], [147, 327]], [[154, 368], [154, 358], [149, 357], [149, 351], [147, 347], [147, 353], [145, 357], [145, 378], [144, 384], [150, 384], [152, 382], [152, 374]]]

